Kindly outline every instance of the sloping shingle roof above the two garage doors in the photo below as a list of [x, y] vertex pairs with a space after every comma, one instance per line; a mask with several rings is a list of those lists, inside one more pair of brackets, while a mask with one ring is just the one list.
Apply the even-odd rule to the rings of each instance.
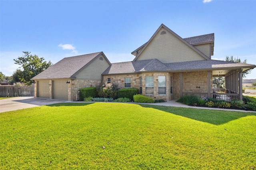
[[64, 58], [34, 76], [32, 79], [72, 78], [76, 72], [92, 61], [100, 53], [102, 52]]

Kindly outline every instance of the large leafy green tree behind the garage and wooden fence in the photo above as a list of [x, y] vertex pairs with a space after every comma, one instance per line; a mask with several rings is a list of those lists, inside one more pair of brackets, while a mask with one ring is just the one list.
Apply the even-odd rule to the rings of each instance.
[[31, 55], [28, 51], [22, 52], [24, 54], [21, 57], [18, 57], [18, 59], [14, 59], [14, 61], [15, 64], [21, 65], [19, 68], [22, 67], [23, 70], [21, 72], [16, 70], [16, 73], [18, 71], [20, 82], [23, 82], [26, 85], [31, 85], [32, 81], [30, 79], [52, 66], [52, 62], [49, 61], [47, 63], [44, 61], [43, 57], [39, 58], [37, 55]]

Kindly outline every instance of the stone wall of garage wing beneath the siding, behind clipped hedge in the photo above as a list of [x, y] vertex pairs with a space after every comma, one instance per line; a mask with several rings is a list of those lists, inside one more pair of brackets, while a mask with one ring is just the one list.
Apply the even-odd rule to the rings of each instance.
[[68, 86], [68, 100], [79, 100], [78, 90], [86, 87], [96, 87], [101, 84], [101, 80], [70, 80]]

